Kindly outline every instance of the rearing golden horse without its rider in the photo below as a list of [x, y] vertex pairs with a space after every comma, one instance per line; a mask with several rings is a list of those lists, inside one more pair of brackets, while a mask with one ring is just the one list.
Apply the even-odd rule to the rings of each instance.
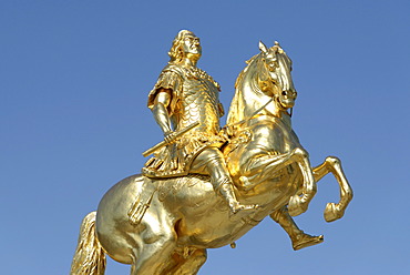
[[132, 275], [197, 274], [206, 248], [233, 244], [268, 215], [293, 237], [298, 228], [290, 215], [307, 210], [327, 173], [340, 186], [340, 201], [326, 206], [325, 218], [344, 215], [352, 191], [340, 161], [329, 156], [311, 167], [291, 129], [297, 93], [290, 59], [278, 43], [268, 49], [260, 42], [259, 49], [236, 81], [223, 147], [238, 201], [258, 207], [232, 214], [206, 176], [132, 175], [84, 217], [71, 274], [104, 274], [105, 254], [130, 264]]

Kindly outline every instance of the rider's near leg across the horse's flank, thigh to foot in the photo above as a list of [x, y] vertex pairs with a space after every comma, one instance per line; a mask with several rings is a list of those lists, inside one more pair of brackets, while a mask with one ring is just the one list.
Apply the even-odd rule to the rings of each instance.
[[243, 205], [237, 201], [224, 155], [217, 147], [207, 147], [201, 152], [189, 172], [211, 175], [215, 192], [226, 200], [234, 214], [240, 210], [255, 208], [255, 205]]

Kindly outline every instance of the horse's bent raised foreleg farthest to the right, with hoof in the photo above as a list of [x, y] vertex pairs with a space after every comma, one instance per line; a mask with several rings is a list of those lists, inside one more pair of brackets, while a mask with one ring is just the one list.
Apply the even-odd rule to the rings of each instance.
[[336, 156], [326, 157], [325, 162], [317, 167], [314, 167], [315, 181], [318, 182], [321, 177], [332, 173], [340, 186], [339, 203], [328, 203], [325, 208], [326, 222], [334, 222], [344, 216], [345, 210], [353, 197], [353, 192], [346, 179], [341, 169], [340, 160]]

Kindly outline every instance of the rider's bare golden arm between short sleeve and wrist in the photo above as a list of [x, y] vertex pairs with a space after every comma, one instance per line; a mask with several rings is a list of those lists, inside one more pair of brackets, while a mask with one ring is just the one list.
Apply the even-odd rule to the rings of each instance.
[[152, 112], [154, 114], [156, 123], [160, 125], [164, 135], [172, 132], [171, 120], [168, 114], [168, 105], [172, 98], [171, 89], [160, 89], [156, 93]]

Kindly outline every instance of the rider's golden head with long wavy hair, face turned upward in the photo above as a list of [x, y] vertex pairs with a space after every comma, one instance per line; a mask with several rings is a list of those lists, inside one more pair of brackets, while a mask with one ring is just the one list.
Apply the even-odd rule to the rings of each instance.
[[184, 58], [198, 60], [202, 54], [199, 39], [187, 30], [182, 30], [175, 37], [168, 55], [171, 61], [182, 61]]

